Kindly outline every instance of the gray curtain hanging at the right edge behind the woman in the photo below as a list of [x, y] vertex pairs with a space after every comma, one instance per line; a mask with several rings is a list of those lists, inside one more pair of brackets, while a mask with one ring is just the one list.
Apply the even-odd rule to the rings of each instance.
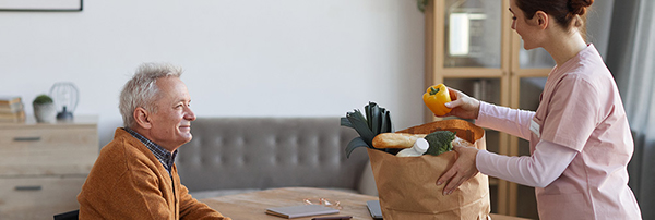
[[634, 137], [629, 185], [643, 219], [655, 219], [655, 1], [615, 1], [606, 63]]

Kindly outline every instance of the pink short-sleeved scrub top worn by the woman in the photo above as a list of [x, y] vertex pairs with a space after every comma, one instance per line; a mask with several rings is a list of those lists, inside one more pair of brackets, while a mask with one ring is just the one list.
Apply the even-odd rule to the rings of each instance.
[[593, 45], [546, 82], [531, 122], [531, 154], [539, 140], [579, 151], [564, 172], [536, 187], [540, 219], [641, 219], [628, 187], [634, 150], [623, 103], [609, 70]]

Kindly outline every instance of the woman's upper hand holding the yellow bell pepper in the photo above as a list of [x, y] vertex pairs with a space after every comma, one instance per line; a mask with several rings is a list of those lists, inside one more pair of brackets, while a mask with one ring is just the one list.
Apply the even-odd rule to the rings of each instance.
[[466, 94], [448, 88], [450, 97], [453, 101], [445, 103], [445, 107], [451, 108], [451, 112], [442, 117], [458, 117], [462, 119], [477, 119], [480, 111], [480, 101], [466, 96]]

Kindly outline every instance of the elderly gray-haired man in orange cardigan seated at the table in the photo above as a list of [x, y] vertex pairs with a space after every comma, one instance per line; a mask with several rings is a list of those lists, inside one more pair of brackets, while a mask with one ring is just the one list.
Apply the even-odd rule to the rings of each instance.
[[147, 63], [120, 94], [124, 127], [100, 150], [82, 192], [80, 219], [229, 219], [192, 198], [175, 167], [191, 140], [191, 98], [181, 70]]

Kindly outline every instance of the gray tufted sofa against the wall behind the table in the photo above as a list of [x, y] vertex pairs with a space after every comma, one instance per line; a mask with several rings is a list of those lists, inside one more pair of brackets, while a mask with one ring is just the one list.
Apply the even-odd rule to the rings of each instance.
[[338, 118], [199, 118], [176, 166], [195, 198], [284, 186], [377, 195], [365, 149]]

